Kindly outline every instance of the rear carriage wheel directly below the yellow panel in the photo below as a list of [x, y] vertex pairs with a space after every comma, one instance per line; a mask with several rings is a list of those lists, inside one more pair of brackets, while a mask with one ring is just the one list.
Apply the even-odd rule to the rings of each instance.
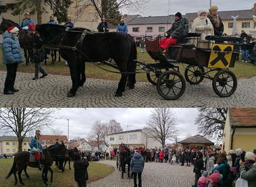
[[229, 97], [237, 87], [236, 75], [228, 69], [221, 69], [213, 77], [213, 90], [220, 97]]

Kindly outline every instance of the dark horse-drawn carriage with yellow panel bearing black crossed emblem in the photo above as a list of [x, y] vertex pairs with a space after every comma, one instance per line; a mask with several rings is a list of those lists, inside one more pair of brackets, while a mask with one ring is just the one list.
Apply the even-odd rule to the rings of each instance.
[[[213, 90], [220, 97], [234, 94], [237, 79], [228, 69], [234, 67], [239, 52], [234, 50], [234, 45], [241, 38], [207, 36], [205, 39], [208, 41], [208, 48], [197, 48], [190, 44], [190, 40], [198, 41], [199, 37], [199, 33], [188, 33], [164, 54], [159, 52], [160, 36], [154, 40], [146, 38], [146, 50], [156, 63], [136, 62], [147, 71], [147, 79], [157, 86], [159, 95], [166, 100], [180, 98], [186, 89], [186, 81], [199, 84], [203, 79], [212, 80]], [[186, 81], [180, 73], [178, 63], [188, 65], [184, 71]]]

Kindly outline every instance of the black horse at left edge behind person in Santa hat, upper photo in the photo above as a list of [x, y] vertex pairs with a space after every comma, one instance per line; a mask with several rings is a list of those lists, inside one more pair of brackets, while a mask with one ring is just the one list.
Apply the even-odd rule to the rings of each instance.
[[26, 60], [26, 65], [29, 63], [29, 55], [28, 55], [28, 32], [26, 30], [22, 29], [19, 24], [16, 22], [13, 22], [11, 20], [7, 20], [3, 18], [1, 24], [0, 24], [0, 34], [5, 32], [10, 26], [15, 26], [19, 29], [19, 41], [20, 46], [24, 50], [24, 57]]

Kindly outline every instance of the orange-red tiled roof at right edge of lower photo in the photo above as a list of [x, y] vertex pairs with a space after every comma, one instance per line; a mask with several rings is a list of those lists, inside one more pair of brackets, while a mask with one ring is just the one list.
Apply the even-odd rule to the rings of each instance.
[[256, 108], [230, 108], [230, 126], [256, 128]]

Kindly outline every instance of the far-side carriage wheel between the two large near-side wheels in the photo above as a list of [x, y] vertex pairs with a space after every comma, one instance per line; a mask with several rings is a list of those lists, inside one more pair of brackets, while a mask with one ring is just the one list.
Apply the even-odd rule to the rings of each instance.
[[188, 65], [186, 67], [184, 75], [186, 81], [190, 84], [199, 84], [201, 81], [203, 81], [203, 78], [201, 75], [205, 72], [205, 69], [203, 67], [195, 66], [195, 65]]

